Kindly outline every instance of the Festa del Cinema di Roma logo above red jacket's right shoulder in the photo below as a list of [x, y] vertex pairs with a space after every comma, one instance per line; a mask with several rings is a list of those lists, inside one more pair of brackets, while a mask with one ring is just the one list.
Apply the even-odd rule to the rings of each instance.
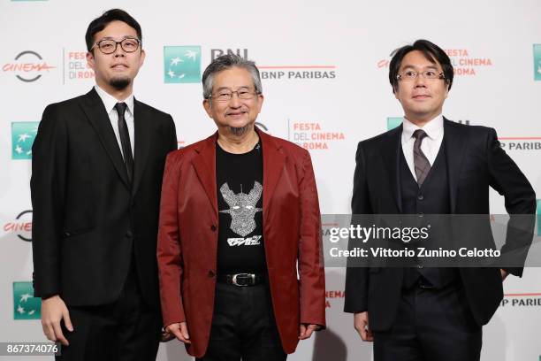
[[329, 131], [318, 122], [287, 119], [287, 139], [305, 150], [329, 150], [334, 142], [343, 142], [342, 132]]

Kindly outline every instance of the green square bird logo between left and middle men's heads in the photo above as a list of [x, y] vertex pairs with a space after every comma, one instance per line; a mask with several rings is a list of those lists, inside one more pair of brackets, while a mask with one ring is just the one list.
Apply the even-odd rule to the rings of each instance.
[[201, 46], [164, 46], [165, 83], [201, 81]]

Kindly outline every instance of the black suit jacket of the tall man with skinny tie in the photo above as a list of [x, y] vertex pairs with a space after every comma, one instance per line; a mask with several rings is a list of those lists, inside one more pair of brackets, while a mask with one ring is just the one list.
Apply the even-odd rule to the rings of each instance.
[[[133, 184], [102, 99], [50, 104], [32, 148], [34, 295], [70, 305], [118, 299], [136, 260], [142, 296], [158, 307], [156, 236], [170, 115], [134, 100]], [[133, 140], [132, 140], [133, 142]]]

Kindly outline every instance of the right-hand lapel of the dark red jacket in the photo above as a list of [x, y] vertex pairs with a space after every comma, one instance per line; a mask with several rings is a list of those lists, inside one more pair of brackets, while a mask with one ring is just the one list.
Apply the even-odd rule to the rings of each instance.
[[280, 146], [272, 140], [270, 135], [265, 134], [255, 127], [263, 147], [263, 215], [268, 215], [270, 198], [278, 184], [280, 175], [286, 163], [286, 155], [279, 151]]

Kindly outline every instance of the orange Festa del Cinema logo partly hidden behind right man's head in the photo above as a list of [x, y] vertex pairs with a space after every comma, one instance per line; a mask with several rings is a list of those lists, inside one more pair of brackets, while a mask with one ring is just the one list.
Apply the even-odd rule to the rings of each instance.
[[[475, 76], [480, 69], [492, 66], [491, 58], [478, 57], [468, 49], [447, 49], [444, 51], [451, 59], [455, 76]], [[388, 68], [391, 58], [392, 54], [389, 55], [389, 58], [379, 60], [377, 67]]]

